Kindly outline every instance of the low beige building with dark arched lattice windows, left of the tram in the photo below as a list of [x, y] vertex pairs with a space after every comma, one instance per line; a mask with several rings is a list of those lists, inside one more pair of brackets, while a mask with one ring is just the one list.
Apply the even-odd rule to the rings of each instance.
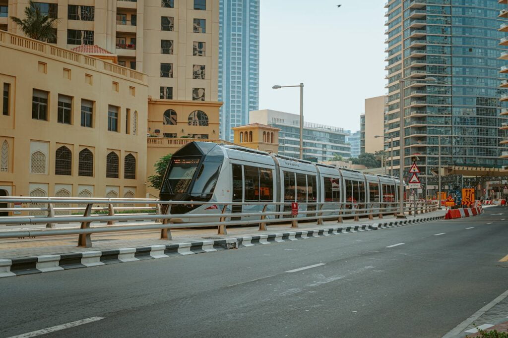
[[147, 77], [0, 31], [0, 195], [144, 197]]

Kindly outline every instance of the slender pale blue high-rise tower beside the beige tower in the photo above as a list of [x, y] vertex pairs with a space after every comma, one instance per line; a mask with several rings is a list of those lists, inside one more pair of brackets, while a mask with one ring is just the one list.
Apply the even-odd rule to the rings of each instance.
[[220, 137], [248, 123], [259, 109], [259, 0], [219, 1]]

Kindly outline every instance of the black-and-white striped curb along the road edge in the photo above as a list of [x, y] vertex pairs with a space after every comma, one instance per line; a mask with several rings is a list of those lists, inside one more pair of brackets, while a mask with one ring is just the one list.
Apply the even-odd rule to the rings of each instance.
[[443, 218], [444, 216], [436, 216], [384, 223], [336, 226], [321, 229], [289, 231], [255, 236], [241, 236], [224, 240], [199, 241], [168, 245], [152, 245], [138, 248], [106, 249], [102, 251], [85, 251], [64, 253], [59, 255], [41, 255], [12, 259], [0, 259], [0, 278], [40, 274], [52, 271], [139, 261], [145, 259], [166, 258], [178, 255], [183, 256], [229, 249], [240, 249], [255, 245], [298, 241], [320, 236], [336, 235], [340, 233], [387, 229], [408, 224], [434, 221]]

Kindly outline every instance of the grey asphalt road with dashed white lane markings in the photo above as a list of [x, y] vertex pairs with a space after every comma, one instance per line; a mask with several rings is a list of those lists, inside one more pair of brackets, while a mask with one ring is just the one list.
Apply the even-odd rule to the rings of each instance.
[[5, 278], [0, 336], [92, 318], [48, 335], [440, 337], [508, 289], [506, 255], [508, 208], [496, 207], [466, 219]]

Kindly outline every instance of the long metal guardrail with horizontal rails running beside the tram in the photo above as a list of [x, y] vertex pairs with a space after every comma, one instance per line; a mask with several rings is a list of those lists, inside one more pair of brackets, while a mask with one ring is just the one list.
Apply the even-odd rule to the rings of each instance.
[[[0, 203], [22, 203], [22, 204], [46, 204], [47, 207], [21, 207], [21, 208], [0, 208], [2, 211], [43, 211], [47, 212], [46, 217], [41, 216], [5, 216], [0, 217], [0, 225], [6, 224], [44, 224], [46, 229], [0, 231], [0, 239], [6, 238], [31, 238], [37, 236], [54, 236], [78, 234], [78, 246], [89, 248], [92, 246], [92, 233], [119, 232], [134, 230], [161, 230], [161, 239], [171, 240], [171, 229], [187, 227], [210, 227], [217, 226], [219, 234], [227, 234], [227, 227], [234, 225], [259, 224], [259, 230], [267, 230], [267, 225], [272, 223], [289, 223], [291, 227], [298, 227], [299, 221], [317, 221], [317, 225], [323, 225], [325, 220], [337, 220], [342, 223], [344, 217], [354, 218], [356, 221], [362, 216], [373, 219], [374, 215], [383, 218], [383, 215], [398, 212], [398, 203], [385, 202], [302, 202], [302, 205], [311, 206], [313, 210], [299, 211], [298, 215], [292, 215], [292, 211], [283, 211], [284, 206], [291, 206], [288, 202], [200, 202], [200, 201], [167, 201], [150, 198], [77, 198], [77, 197], [0, 197]], [[55, 207], [62, 204], [80, 204], [85, 207]], [[141, 205], [140, 207], [125, 207], [125, 204]], [[94, 207], [97, 205], [97, 207]], [[101, 207], [107, 205], [107, 207]], [[116, 205], [123, 205], [118, 207]], [[144, 206], [143, 206], [144, 205]], [[153, 206], [146, 206], [153, 205]], [[209, 214], [169, 214], [171, 205], [209, 205], [215, 206], [217, 213]], [[230, 206], [259, 206], [261, 212], [228, 212]], [[279, 206], [282, 211], [267, 211], [269, 207], [276, 209]], [[324, 207], [328, 208], [324, 208]], [[218, 213], [220, 207], [220, 213]], [[333, 208], [330, 208], [333, 207]], [[404, 211], [409, 215], [434, 211], [438, 208], [437, 200], [410, 200], [406, 201]], [[151, 211], [152, 213], [136, 213], [118, 215], [115, 211]], [[83, 215], [55, 215], [55, 211], [83, 211]], [[108, 214], [92, 215], [92, 211], [107, 211]], [[300, 217], [298, 217], [300, 216]], [[189, 222], [180, 223], [181, 219], [188, 219]], [[196, 221], [192, 219], [207, 218], [209, 221]], [[233, 220], [232, 218], [235, 218]], [[236, 219], [238, 218], [238, 219]], [[247, 218], [247, 219], [245, 219]], [[229, 219], [229, 220], [228, 220]], [[243, 219], [243, 220], [242, 220]], [[140, 225], [113, 225], [116, 221], [153, 220], [152, 224]], [[55, 228], [56, 224], [81, 223], [76, 228]], [[92, 222], [107, 222], [107, 225], [93, 227]]]

